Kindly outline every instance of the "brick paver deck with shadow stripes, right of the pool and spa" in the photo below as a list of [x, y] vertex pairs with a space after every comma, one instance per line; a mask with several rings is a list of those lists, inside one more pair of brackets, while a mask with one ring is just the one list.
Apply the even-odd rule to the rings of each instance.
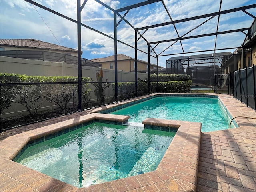
[[[256, 117], [232, 96], [218, 96], [232, 117]], [[256, 192], [256, 120], [236, 122], [239, 128], [201, 134], [198, 192]]]

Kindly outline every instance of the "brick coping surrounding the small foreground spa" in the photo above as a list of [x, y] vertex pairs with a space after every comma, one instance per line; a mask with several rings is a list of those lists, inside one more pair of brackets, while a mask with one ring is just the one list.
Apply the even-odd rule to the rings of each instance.
[[[30, 140], [35, 140], [37, 138], [41, 138], [44, 135], [52, 134], [54, 131], [59, 132], [60, 130], [65, 130], [68, 126], [72, 127], [81, 122], [84, 122], [85, 120], [92, 120], [93, 118], [106, 119], [110, 116], [114, 116], [112, 120], [120, 121], [116, 115], [88, 114], [81, 116], [79, 119], [67, 120], [6, 138], [1, 142], [1, 174], [9, 177], [14, 177], [14, 175], [18, 174], [17, 177], [20, 177], [20, 175], [26, 174], [26, 172], [34, 171], [11, 160], [19, 153], [20, 150], [22, 150], [22, 148], [24, 148], [24, 146], [26, 146]], [[126, 120], [127, 116], [123, 116], [121, 121], [124, 122]], [[112, 182], [96, 184], [94, 186], [89, 186], [86, 189], [89, 190], [98, 188], [96, 191], [100, 191], [101, 188], [104, 188], [106, 191], [107, 189], [118, 191], [118, 189], [124, 188], [125, 190], [122, 191], [129, 191], [137, 188], [156, 188], [157, 191], [158, 188], [168, 191], [179, 189], [179, 191], [184, 192], [196, 190], [201, 124], [194, 122], [159, 119], [150, 119], [146, 120], [145, 122], [148, 122], [149, 124], [154, 124], [154, 122], [157, 122], [158, 125], [160, 125], [160, 122], [162, 122], [160, 126], [171, 126], [175, 123], [175, 125], [179, 127], [176, 133], [177, 136], [175, 136], [172, 141], [173, 144], [169, 146], [157, 170], [120, 180], [114, 180]], [[61, 126], [62, 128], [60, 128]], [[193, 146], [193, 149], [196, 149], [194, 152], [189, 149], [191, 146]], [[186, 155], [186, 153], [189, 154]], [[43, 191], [41, 189], [45, 188], [46, 185], [48, 188], [56, 188], [56, 186], [60, 187], [65, 185], [69, 188], [73, 188], [75, 191], [80, 190], [80, 188], [76, 188], [54, 178], [50, 178], [49, 176], [46, 176], [42, 173], [34, 171], [34, 174], [39, 174], [43, 178], [48, 178], [49, 182], [53, 182], [55, 185], [48, 186], [50, 183], [46, 182], [46, 184], [40, 186], [40, 180], [33, 182], [33, 185], [26, 184], [26, 182], [23, 183], [22, 180], [20, 180], [20, 184], [34, 188], [38, 191]], [[186, 176], [184, 177], [184, 175]], [[14, 177], [14, 179], [15, 178], [16, 177]], [[34, 186], [38, 186], [38, 188]]]

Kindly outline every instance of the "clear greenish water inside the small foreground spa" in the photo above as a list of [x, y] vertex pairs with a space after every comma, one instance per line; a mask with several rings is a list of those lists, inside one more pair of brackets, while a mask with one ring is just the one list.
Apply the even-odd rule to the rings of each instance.
[[174, 135], [94, 123], [29, 147], [17, 162], [84, 187], [156, 170]]

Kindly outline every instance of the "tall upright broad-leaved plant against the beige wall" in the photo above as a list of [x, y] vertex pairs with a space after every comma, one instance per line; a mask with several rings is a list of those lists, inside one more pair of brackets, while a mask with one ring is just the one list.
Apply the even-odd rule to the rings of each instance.
[[[91, 80], [92, 78], [89, 77]], [[100, 72], [96, 72], [96, 78], [97, 78], [97, 82], [94, 82], [92, 80], [92, 85], [96, 88], [94, 90], [94, 94], [97, 98], [97, 102], [100, 101], [100, 104], [103, 104], [105, 102], [105, 96], [106, 94], [104, 94], [104, 90], [106, 88], [109, 88], [110, 86], [110, 83], [106, 82], [106, 83], [103, 83], [103, 70], [102, 68], [100, 69]], [[106, 81], [108, 81], [108, 79], [106, 79]]]

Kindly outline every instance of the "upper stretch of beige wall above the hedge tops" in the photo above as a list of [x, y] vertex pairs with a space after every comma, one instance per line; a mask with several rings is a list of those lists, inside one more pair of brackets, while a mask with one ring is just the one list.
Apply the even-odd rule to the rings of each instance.
[[[92, 77], [96, 81], [95, 73], [100, 68], [82, 66], [82, 76]], [[104, 81], [115, 81], [114, 70], [104, 69]], [[26, 74], [31, 76], [78, 76], [78, 66], [65, 62], [48, 62], [11, 57], [0, 57], [1, 73]], [[138, 78], [147, 77], [145, 73], [138, 73]], [[134, 72], [118, 71], [118, 81], [135, 81]]]

